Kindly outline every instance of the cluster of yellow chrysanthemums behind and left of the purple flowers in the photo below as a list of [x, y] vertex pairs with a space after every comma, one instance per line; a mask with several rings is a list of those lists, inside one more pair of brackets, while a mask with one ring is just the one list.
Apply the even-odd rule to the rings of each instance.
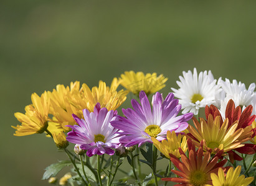
[[[164, 78], [163, 74], [156, 76], [156, 73], [145, 75], [142, 72], [135, 74], [134, 71], [126, 71], [120, 78], [113, 78], [110, 86], [99, 81], [98, 87], [90, 89], [87, 84], [80, 86], [80, 82], [75, 81], [70, 82], [67, 87], [59, 84], [56, 89], [45, 91], [41, 96], [34, 93], [31, 95], [32, 104], [25, 108], [26, 113], [14, 114], [21, 122], [21, 125], [12, 126], [16, 129], [14, 136], [46, 133], [54, 139], [58, 148], [66, 148], [69, 143], [65, 132], [70, 130], [66, 125], [76, 123], [72, 117], [73, 113], [82, 118], [83, 109], [87, 108], [93, 112], [98, 102], [108, 110], [116, 110], [125, 102], [129, 92], [138, 94], [145, 90], [146, 94], [151, 94], [163, 88], [166, 81], [167, 78]], [[120, 84], [127, 90], [117, 91]]]

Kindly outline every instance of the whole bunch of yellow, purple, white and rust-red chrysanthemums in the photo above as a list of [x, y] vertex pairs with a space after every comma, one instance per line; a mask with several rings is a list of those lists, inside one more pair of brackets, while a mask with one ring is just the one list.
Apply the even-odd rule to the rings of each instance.
[[[110, 87], [59, 84], [14, 114], [14, 136], [44, 133], [67, 154], [46, 167], [49, 184], [255, 185], [255, 84], [246, 89], [196, 69], [179, 79], [166, 97], [158, 91], [168, 79], [156, 73], [126, 71]], [[131, 108], [118, 113], [129, 92]]]

